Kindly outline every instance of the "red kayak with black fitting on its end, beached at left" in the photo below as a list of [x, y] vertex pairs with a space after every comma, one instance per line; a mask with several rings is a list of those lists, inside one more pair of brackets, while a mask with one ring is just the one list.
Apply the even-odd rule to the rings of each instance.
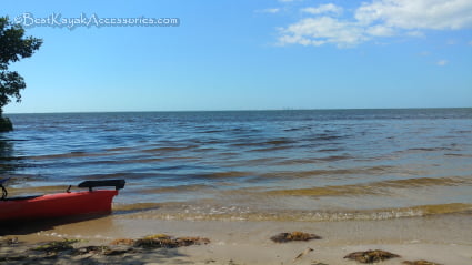
[[[124, 184], [124, 180], [86, 181], [79, 184], [79, 187], [89, 188], [86, 192], [69, 192], [69, 186], [64, 193], [7, 198], [7, 190], [0, 182], [3, 191], [0, 200], [0, 222], [110, 213], [111, 202]], [[116, 188], [93, 190], [101, 186]]]

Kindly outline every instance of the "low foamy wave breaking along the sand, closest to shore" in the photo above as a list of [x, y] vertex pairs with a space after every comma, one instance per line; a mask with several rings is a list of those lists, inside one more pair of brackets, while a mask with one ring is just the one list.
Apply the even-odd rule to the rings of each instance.
[[[133, 206], [131, 207], [133, 208]], [[160, 205], [158, 211], [141, 211], [130, 218], [188, 220], [188, 221], [282, 221], [282, 222], [339, 222], [380, 221], [401, 217], [419, 217], [441, 214], [470, 214], [472, 204], [451, 203], [418, 205], [398, 208], [339, 210], [339, 211], [255, 211], [243, 206], [214, 205]]]

